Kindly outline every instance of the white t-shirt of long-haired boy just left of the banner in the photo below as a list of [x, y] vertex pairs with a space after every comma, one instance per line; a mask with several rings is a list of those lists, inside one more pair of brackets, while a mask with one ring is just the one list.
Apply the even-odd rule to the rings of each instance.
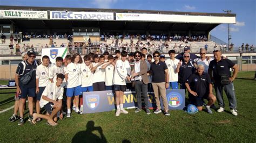
[[67, 88], [74, 88], [81, 85], [80, 67], [81, 64], [75, 64], [73, 62], [66, 66], [65, 74], [68, 74]]

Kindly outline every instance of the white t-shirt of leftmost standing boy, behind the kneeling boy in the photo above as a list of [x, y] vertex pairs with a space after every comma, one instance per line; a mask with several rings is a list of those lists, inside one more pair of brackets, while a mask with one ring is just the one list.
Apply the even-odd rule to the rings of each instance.
[[46, 85], [51, 82], [49, 80], [51, 66], [52, 65], [49, 64], [48, 67], [45, 67], [43, 64], [41, 64], [36, 68], [36, 78], [39, 79], [38, 87], [46, 87]]

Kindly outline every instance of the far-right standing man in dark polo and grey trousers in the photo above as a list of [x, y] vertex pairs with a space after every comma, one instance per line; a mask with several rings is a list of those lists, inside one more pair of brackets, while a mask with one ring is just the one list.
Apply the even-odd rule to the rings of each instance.
[[[238, 74], [238, 66], [231, 60], [221, 57], [221, 51], [214, 51], [214, 60], [210, 62], [208, 73], [214, 83], [214, 89], [220, 108], [218, 112], [224, 111], [223, 89], [227, 95], [231, 113], [238, 115], [237, 99], [235, 98], [233, 81]], [[231, 76], [230, 68], [234, 70]], [[213, 74], [212, 74], [213, 73]], [[213, 76], [212, 76], [213, 75]]]

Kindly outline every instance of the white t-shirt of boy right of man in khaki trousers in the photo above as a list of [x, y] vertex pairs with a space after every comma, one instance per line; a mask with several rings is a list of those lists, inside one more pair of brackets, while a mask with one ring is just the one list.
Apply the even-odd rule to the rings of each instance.
[[178, 59], [167, 59], [165, 60], [166, 66], [168, 67], [169, 82], [178, 82], [178, 73], [175, 73], [179, 60]]

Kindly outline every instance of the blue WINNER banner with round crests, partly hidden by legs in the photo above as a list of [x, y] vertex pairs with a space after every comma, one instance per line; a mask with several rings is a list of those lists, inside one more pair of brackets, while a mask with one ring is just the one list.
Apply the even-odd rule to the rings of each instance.
[[[150, 109], [156, 108], [156, 100], [154, 99], [154, 92], [148, 92]], [[170, 110], [183, 110], [185, 107], [185, 90], [166, 90], [166, 98]], [[163, 108], [163, 101], [161, 101], [161, 108]], [[83, 92], [83, 108], [84, 113], [95, 113], [112, 111], [116, 109], [116, 101], [112, 90], [107, 91], [93, 91]], [[131, 109], [137, 107], [137, 97], [135, 92], [124, 92], [123, 99], [124, 108]], [[142, 106], [144, 100], [142, 97]]]

